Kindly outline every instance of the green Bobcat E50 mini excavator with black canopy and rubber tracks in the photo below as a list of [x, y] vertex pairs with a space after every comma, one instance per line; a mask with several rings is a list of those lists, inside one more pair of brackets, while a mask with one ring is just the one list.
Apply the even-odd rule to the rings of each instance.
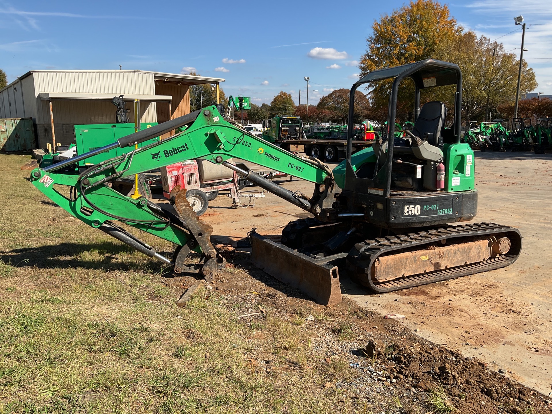
[[[394, 137], [397, 91], [406, 78], [415, 84], [415, 124], [408, 136]], [[379, 139], [373, 147], [353, 155], [354, 93], [365, 83], [384, 79], [394, 79], [387, 123], [391, 138]], [[445, 105], [428, 102], [420, 108], [420, 93], [453, 84], [454, 123], [445, 129]], [[283, 230], [282, 244], [252, 232], [251, 260], [317, 302], [336, 304], [341, 301], [338, 269], [383, 293], [508, 266], [519, 256], [522, 237], [512, 227], [492, 223], [448, 225], [472, 220], [477, 210], [474, 153], [468, 144], [460, 144], [461, 91], [460, 68], [432, 59], [368, 73], [351, 88], [347, 158], [333, 171], [316, 158], [296, 156], [248, 134], [226, 121], [221, 107], [212, 106], [71, 160], [36, 168], [31, 181], [86, 224], [173, 266], [176, 273], [196, 272], [209, 279], [225, 263], [211, 245], [212, 227], [195, 215], [185, 190], [173, 190], [173, 210], [145, 198], [125, 197], [108, 184], [193, 158], [222, 164], [314, 215], [290, 222]], [[181, 132], [174, 136], [100, 162], [82, 173], [59, 172], [65, 163], [115, 147], [134, 146], [177, 128]], [[279, 187], [228, 162], [232, 157], [310, 181], [314, 192], [307, 197]], [[172, 258], [157, 253], [115, 221], [173, 242], [176, 250]], [[190, 252], [201, 254], [199, 263], [188, 264]]]

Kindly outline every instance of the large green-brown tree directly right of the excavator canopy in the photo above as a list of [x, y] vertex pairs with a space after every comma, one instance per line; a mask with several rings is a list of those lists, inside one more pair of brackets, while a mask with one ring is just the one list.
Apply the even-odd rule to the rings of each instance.
[[[484, 120], [487, 100], [496, 112], [498, 105], [516, 99], [519, 60], [513, 53], [505, 53], [501, 43], [491, 42], [485, 36], [477, 38], [473, 31], [444, 42], [437, 50], [439, 58], [457, 63], [462, 71], [462, 112], [466, 120]], [[523, 61], [521, 95], [537, 87], [535, 73]], [[448, 94], [452, 106], [452, 92]], [[445, 102], [445, 97], [442, 99]]]

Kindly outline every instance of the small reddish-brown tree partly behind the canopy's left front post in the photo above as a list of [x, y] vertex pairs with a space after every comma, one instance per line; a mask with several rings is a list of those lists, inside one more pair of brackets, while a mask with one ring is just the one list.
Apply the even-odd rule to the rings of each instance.
[[[328, 120], [347, 123], [349, 118], [349, 89], [341, 88], [327, 94], [317, 105], [319, 110], [327, 110]], [[370, 104], [366, 96], [356, 91], [354, 95], [354, 122], [367, 118]]]

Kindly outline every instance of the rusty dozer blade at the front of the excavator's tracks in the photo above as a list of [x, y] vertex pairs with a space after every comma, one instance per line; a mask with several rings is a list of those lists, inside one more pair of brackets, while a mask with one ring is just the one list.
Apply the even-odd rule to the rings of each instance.
[[313, 259], [252, 232], [251, 262], [280, 282], [301, 290], [321, 305], [341, 302], [337, 266]]

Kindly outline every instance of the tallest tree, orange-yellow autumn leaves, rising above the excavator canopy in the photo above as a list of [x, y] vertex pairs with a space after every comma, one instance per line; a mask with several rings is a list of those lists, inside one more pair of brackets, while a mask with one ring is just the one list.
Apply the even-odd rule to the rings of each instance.
[[[417, 0], [381, 16], [372, 25], [368, 48], [360, 58], [360, 76], [368, 72], [405, 65], [436, 57], [439, 45], [461, 34], [462, 28], [450, 16], [446, 5], [433, 0]], [[370, 103], [375, 113], [387, 113], [391, 82], [369, 85]], [[397, 117], [412, 117], [413, 84], [402, 82], [397, 103]]]

